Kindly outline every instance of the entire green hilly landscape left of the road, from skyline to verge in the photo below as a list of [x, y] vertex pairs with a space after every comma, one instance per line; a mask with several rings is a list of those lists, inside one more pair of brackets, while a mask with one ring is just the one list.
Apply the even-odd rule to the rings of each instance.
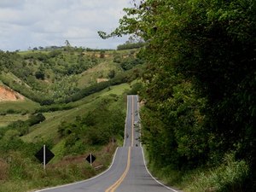
[[[0, 52], [0, 192], [78, 181], [108, 167], [124, 137], [126, 94], [143, 73], [136, 52]], [[43, 144], [55, 154], [45, 172], [34, 157]], [[101, 170], [84, 164], [88, 153]]]

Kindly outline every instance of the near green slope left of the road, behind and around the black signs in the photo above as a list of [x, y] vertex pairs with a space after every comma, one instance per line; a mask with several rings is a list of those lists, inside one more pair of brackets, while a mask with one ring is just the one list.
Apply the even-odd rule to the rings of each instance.
[[[73, 182], [106, 169], [114, 148], [123, 140], [124, 94], [129, 89], [129, 84], [116, 85], [73, 103], [76, 108], [43, 113], [46, 119], [30, 126], [21, 139], [22, 127], [0, 129], [0, 191], [26, 191]], [[31, 117], [21, 120], [27, 118]], [[114, 145], [110, 143], [112, 138]], [[34, 157], [43, 144], [55, 153], [46, 172]], [[102, 165], [102, 170], [96, 171], [84, 162], [91, 152], [97, 158], [94, 166]]]

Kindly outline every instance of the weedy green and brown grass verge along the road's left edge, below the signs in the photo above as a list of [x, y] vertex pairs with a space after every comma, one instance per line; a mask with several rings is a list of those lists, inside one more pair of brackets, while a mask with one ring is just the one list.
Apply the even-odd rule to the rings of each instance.
[[[101, 170], [96, 170], [84, 158], [88, 154], [66, 157], [55, 164], [49, 164], [44, 171], [43, 166], [33, 163], [31, 160], [23, 159], [20, 154], [12, 154], [14, 162], [11, 164], [12, 179], [7, 182], [0, 180], [0, 192], [35, 191], [50, 186], [73, 183], [84, 180], [108, 168], [111, 163], [116, 146], [111, 144], [102, 148], [90, 148], [96, 156], [94, 167], [103, 165]], [[0, 167], [3, 163], [0, 161]], [[0, 174], [1, 175], [1, 174]]]

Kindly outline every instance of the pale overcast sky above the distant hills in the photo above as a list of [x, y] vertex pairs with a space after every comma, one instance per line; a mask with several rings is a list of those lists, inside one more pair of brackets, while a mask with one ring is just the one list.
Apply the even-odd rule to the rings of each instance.
[[0, 49], [38, 46], [115, 49], [127, 38], [103, 40], [97, 31], [119, 25], [131, 0], [0, 0]]

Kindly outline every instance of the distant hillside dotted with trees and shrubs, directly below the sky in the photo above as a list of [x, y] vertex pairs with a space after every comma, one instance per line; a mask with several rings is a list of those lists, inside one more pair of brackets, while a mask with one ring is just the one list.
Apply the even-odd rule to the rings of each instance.
[[0, 52], [0, 80], [41, 105], [70, 102], [70, 97], [80, 95], [99, 79], [108, 79], [110, 85], [136, 79], [132, 73], [128, 78], [125, 75], [143, 63], [135, 52], [75, 48]]

